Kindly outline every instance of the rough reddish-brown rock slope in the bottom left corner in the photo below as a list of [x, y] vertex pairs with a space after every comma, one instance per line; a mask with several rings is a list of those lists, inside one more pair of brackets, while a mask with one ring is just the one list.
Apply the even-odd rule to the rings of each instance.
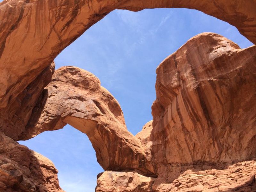
[[0, 191], [62, 192], [53, 163], [0, 133]]

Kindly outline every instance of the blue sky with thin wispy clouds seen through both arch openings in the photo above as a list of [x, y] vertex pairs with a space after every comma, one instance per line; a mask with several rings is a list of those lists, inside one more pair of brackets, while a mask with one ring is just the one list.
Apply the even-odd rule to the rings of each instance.
[[[63, 50], [55, 59], [56, 68], [77, 66], [99, 77], [120, 103], [128, 130], [136, 134], [152, 119], [156, 67], [202, 32], [223, 35], [241, 48], [252, 45], [235, 27], [196, 10], [116, 10]], [[53, 161], [67, 192], [94, 191], [103, 170], [85, 134], [67, 125], [19, 143]]]

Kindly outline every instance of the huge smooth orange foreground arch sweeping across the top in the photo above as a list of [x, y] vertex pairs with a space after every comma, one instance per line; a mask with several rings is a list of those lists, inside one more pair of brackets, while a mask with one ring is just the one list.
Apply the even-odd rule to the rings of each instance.
[[[236, 26], [256, 42], [255, 0], [4, 0], [0, 3], [0, 108], [85, 30], [115, 9], [197, 9]], [[13, 54], [15, 53], [15, 54]]]

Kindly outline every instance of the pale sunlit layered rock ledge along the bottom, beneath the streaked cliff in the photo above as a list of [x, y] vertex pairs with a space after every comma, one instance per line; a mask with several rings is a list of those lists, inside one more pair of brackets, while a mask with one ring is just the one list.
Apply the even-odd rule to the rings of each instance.
[[188, 169], [172, 183], [134, 172], [106, 171], [97, 180], [96, 192], [252, 192], [256, 191], [256, 162], [245, 161], [226, 169]]

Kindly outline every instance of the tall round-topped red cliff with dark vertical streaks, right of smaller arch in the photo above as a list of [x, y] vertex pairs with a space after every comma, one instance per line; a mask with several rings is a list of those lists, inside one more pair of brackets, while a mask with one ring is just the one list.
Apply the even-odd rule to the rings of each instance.
[[188, 40], [156, 69], [150, 139], [155, 163], [232, 163], [255, 157], [256, 47], [223, 36]]

